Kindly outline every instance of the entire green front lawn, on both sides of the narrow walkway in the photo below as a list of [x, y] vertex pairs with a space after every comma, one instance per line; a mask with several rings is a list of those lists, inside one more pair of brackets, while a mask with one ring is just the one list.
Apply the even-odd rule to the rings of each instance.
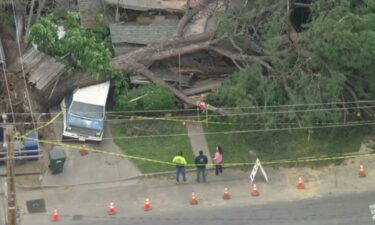
[[[214, 123], [208, 126], [203, 123], [202, 126], [210, 155], [214, 155], [215, 147], [221, 145], [224, 163], [249, 163], [256, 157], [261, 161], [274, 161], [357, 152], [363, 138], [371, 132], [369, 127], [359, 126], [314, 129], [310, 135], [307, 130], [233, 133], [255, 128]], [[128, 120], [111, 125], [111, 130], [113, 137], [122, 137], [114, 141], [127, 155], [171, 162], [179, 151], [183, 151], [188, 162], [194, 160], [187, 129], [180, 122]], [[173, 165], [164, 163], [132, 161], [143, 173], [174, 170]], [[325, 163], [314, 162], [312, 165]]]

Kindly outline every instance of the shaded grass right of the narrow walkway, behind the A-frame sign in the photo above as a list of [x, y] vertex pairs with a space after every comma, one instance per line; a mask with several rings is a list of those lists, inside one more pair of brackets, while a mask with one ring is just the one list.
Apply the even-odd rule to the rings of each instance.
[[[307, 130], [209, 134], [254, 129], [237, 125], [209, 124], [204, 129], [211, 155], [217, 145], [223, 147], [224, 163], [249, 163], [256, 157], [261, 161], [273, 161], [357, 152], [370, 131], [368, 127], [325, 128], [314, 129], [309, 136]], [[321, 164], [326, 161], [312, 163]]]

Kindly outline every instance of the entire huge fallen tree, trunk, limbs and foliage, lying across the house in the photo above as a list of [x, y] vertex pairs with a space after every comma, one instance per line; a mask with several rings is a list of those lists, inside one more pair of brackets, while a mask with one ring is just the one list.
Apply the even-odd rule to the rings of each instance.
[[[189, 2], [190, 1], [187, 0], [187, 6], [189, 6]], [[150, 69], [153, 64], [166, 62], [166, 64], [171, 63], [173, 65], [179, 65], [183, 62], [183, 64], [197, 70], [218, 75], [232, 74], [236, 71], [240, 71], [240, 73], [235, 73], [234, 75], [240, 77], [238, 81], [235, 82], [242, 82], [245, 91], [241, 92], [240, 95], [235, 92], [238, 89], [231, 89], [231, 92], [225, 92], [226, 95], [228, 95], [228, 93], [233, 94], [233, 97], [231, 96], [233, 99], [228, 98], [228, 96], [222, 96], [223, 99], [221, 99], [221, 102], [214, 103], [222, 107], [241, 106], [245, 103], [249, 104], [249, 102], [251, 105], [255, 106], [267, 105], [269, 104], [269, 102], [267, 102], [269, 96], [274, 97], [278, 101], [280, 100], [279, 96], [284, 97], [284, 99], [280, 100], [281, 102], [272, 100], [280, 104], [311, 101], [327, 102], [332, 101], [332, 99], [339, 99], [343, 102], [350, 100], [358, 101], [356, 109], [354, 110], [363, 111], [369, 116], [372, 115], [373, 110], [368, 106], [371, 106], [373, 103], [360, 102], [365, 96], [369, 96], [363, 95], [362, 93], [364, 92], [361, 90], [362, 87], [363, 90], [368, 90], [366, 81], [368, 81], [369, 78], [367, 74], [354, 78], [353, 75], [345, 72], [344, 76], [348, 78], [348, 80], [342, 84], [337, 83], [337, 85], [342, 85], [343, 87], [343, 92], [340, 92], [339, 96], [336, 94], [341, 90], [340, 86], [335, 86], [335, 88], [328, 88], [328, 86], [326, 86], [327, 93], [330, 91], [330, 95], [327, 93], [321, 95], [314, 94], [314, 91], [322, 90], [321, 88], [325, 84], [328, 84], [327, 81], [335, 82], [335, 79], [331, 78], [342, 71], [341, 68], [338, 67], [339, 64], [336, 65], [334, 60], [331, 61], [330, 65], [325, 65], [325, 62], [330, 60], [330, 58], [324, 55], [326, 54], [325, 52], [323, 52], [323, 54], [322, 52], [316, 51], [316, 49], [319, 49], [324, 44], [320, 36], [327, 33], [323, 32], [327, 29], [334, 30], [339, 27], [341, 30], [338, 32], [342, 32], [345, 27], [337, 26], [337, 24], [330, 26], [329, 23], [325, 21], [326, 18], [331, 16], [329, 9], [332, 7], [341, 7], [341, 5], [339, 3], [335, 3], [337, 5], [324, 3], [321, 5], [322, 15], [325, 13], [328, 16], [322, 18], [316, 16], [315, 19], [318, 22], [310, 25], [311, 28], [309, 27], [309, 29], [304, 28], [307, 29], [306, 31], [302, 30], [301, 25], [297, 26], [296, 22], [292, 21], [291, 15], [295, 13], [297, 8], [308, 8], [308, 6], [315, 1], [301, 2], [270, 0], [267, 1], [267, 4], [257, 5], [252, 1], [236, 0], [229, 2], [229, 8], [232, 10], [231, 13], [224, 13], [223, 7], [220, 8], [220, 4], [222, 4], [221, 1], [200, 0], [196, 7], [187, 7], [186, 14], [180, 20], [172, 40], [152, 44], [139, 48], [136, 51], [117, 56], [110, 59], [110, 64], [113, 68], [120, 70], [122, 76], [141, 74], [156, 85], [167, 87], [186, 107], [196, 107], [197, 102], [184, 95], [173, 85], [166, 83], [160, 77], [156, 76]], [[356, 4], [360, 5], [361, 3]], [[212, 21], [215, 21], [216, 26], [211, 26], [211, 29], [205, 26], [203, 32], [199, 34], [187, 34], [187, 27], [191, 24], [191, 21], [194, 17], [202, 17], [201, 14], [206, 16], [207, 20], [212, 18], [211, 15], [217, 16], [214, 20], [211, 20], [211, 24]], [[335, 20], [337, 19], [335, 18]], [[309, 21], [306, 20], [301, 23], [307, 22]], [[342, 23], [344, 22], [346, 22], [346, 20], [343, 19]], [[328, 26], [328, 28], [319, 27], [323, 25]], [[348, 26], [350, 26], [350, 24], [348, 24]], [[212, 27], [214, 27], [214, 29], [212, 29]], [[310, 37], [314, 38], [310, 39]], [[331, 46], [337, 43], [332, 36], [327, 35], [325, 38], [331, 41]], [[340, 51], [340, 49], [335, 49], [335, 51], [336, 50]], [[201, 59], [194, 58], [195, 55], [199, 53], [205, 53], [212, 59], [220, 60], [221, 64], [207, 65]], [[311, 64], [312, 62], [314, 63]], [[353, 72], [359, 70], [359, 68], [361, 67], [358, 66]], [[22, 76], [23, 75], [18, 74], [18, 77], [22, 78]], [[321, 77], [326, 80], [319, 80], [318, 78]], [[36, 110], [33, 111], [44, 111], [49, 106], [61, 101], [61, 99], [74, 88], [98, 83], [102, 81], [102, 79], [108, 78], [95, 80], [88, 76], [82, 77], [79, 75], [65, 77], [59, 81], [59, 85], [53, 91], [52, 95], [48, 93], [48, 98], [43, 97], [46, 96], [46, 93], [40, 93], [31, 88], [30, 99], [33, 99], [33, 101], [36, 102], [35, 105], [38, 105], [35, 106]], [[340, 79], [342, 79], [342, 77], [340, 77]], [[340, 79], [338, 80], [341, 82]], [[245, 83], [244, 80], [249, 83]], [[262, 81], [261, 84], [257, 83], [259, 80]], [[20, 79], [18, 82], [22, 84], [23, 81]], [[257, 93], [257, 89], [263, 87], [260, 85], [265, 85], [263, 89], [268, 92], [262, 90]], [[298, 85], [302, 85], [304, 88], [300, 88]], [[20, 85], [12, 84], [11, 89], [12, 86], [20, 87]], [[306, 91], [310, 90], [309, 88], [312, 90], [310, 93]], [[230, 87], [228, 87], [228, 89], [230, 89]], [[277, 93], [274, 93], [274, 90], [277, 90]], [[17, 88], [11, 91], [15, 93], [19, 92]], [[47, 92], [51, 91], [52, 90], [48, 90]], [[17, 100], [21, 99], [19, 96], [24, 95], [24, 91], [14, 94], [14, 96], [18, 97], [12, 97], [14, 98], [12, 102], [17, 102]], [[225, 102], [227, 99], [230, 99], [230, 101]], [[238, 99], [244, 100], [245, 103]], [[365, 106], [367, 108], [364, 108]], [[220, 107], [211, 107], [210, 109], [215, 112], [223, 113]], [[295, 109], [293, 108], [293, 110]], [[19, 111], [30, 112], [31, 109], [30, 106], [21, 107]], [[296, 112], [292, 119], [297, 119], [299, 124], [301, 124], [302, 117], [302, 114]]]

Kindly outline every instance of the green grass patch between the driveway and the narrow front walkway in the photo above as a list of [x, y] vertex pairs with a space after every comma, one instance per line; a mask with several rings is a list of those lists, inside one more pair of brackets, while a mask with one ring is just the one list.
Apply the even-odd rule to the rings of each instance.
[[[182, 151], [186, 160], [193, 162], [187, 129], [181, 123], [154, 120], [134, 120], [121, 124], [111, 125], [113, 137], [126, 137], [115, 139], [114, 142], [122, 149], [124, 154], [143, 157], [153, 160], [171, 162], [173, 157]], [[185, 134], [173, 136], [176, 134]], [[155, 137], [167, 135], [162, 137]], [[153, 137], [154, 136], [154, 137]], [[144, 160], [132, 159], [142, 173], [162, 172], [174, 170], [172, 165], [154, 163]]]

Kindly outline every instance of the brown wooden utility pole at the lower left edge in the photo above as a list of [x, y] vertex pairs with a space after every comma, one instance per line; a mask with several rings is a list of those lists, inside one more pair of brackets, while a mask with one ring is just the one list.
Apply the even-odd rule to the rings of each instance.
[[14, 184], [14, 127], [8, 125], [6, 127], [6, 143], [7, 143], [7, 177], [8, 177], [8, 225], [16, 225], [16, 189]]

